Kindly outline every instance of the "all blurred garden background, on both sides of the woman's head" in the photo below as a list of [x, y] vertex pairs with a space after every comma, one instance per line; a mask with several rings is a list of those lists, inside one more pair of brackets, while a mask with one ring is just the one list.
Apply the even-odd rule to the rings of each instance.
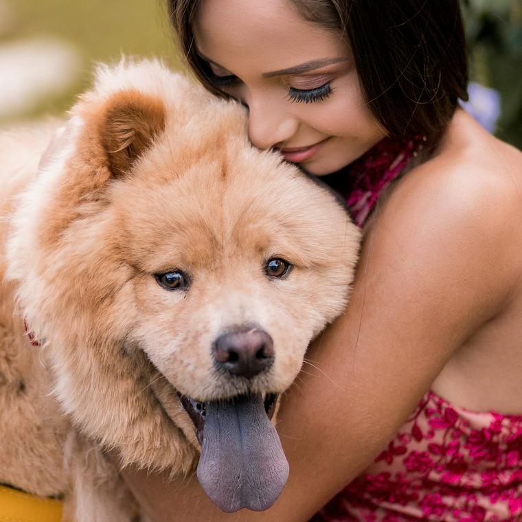
[[[497, 135], [522, 148], [522, 0], [464, 0], [464, 13], [472, 80], [500, 93]], [[89, 85], [95, 62], [122, 53], [183, 67], [164, 0], [0, 0], [0, 125], [62, 113]], [[21, 101], [12, 98], [21, 90], [16, 75], [5, 76], [15, 69], [27, 71]], [[477, 103], [482, 109], [488, 97]]]

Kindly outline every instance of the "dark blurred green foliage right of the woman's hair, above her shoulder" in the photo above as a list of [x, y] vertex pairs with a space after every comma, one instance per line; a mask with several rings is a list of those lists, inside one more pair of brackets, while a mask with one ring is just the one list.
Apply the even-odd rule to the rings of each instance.
[[471, 78], [501, 94], [497, 135], [522, 148], [522, 0], [464, 3]]

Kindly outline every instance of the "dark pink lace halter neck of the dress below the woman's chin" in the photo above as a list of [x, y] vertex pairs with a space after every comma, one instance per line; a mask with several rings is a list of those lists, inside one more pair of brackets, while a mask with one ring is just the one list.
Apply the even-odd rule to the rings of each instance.
[[383, 190], [424, 148], [426, 137], [385, 137], [348, 167], [347, 190], [343, 191], [350, 213], [362, 227]]

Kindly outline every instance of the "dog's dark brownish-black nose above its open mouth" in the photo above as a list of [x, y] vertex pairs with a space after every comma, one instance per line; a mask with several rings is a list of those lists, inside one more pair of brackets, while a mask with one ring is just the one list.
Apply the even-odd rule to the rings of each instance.
[[218, 367], [233, 375], [252, 378], [273, 364], [272, 338], [257, 328], [223, 334], [213, 348]]

